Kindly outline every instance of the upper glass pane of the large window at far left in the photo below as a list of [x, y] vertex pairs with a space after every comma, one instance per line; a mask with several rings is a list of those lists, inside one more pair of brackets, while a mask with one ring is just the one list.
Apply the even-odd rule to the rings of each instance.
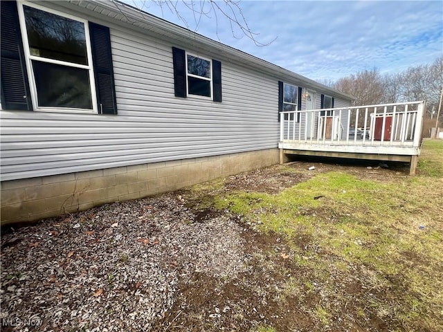
[[23, 8], [30, 55], [88, 64], [82, 22], [29, 6]]

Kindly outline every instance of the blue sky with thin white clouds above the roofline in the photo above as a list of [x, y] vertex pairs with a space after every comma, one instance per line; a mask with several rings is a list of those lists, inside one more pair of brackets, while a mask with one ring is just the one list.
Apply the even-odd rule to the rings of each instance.
[[[443, 1], [239, 1], [256, 46], [210, 3], [125, 0], [146, 12], [320, 82], [376, 68], [400, 73], [443, 55]], [[187, 1], [189, 4], [190, 1]], [[197, 12], [201, 2], [195, 1]], [[223, 1], [215, 2], [229, 10]], [[236, 12], [237, 17], [241, 17]], [[241, 20], [241, 19], [239, 19]], [[270, 43], [270, 44], [269, 44]]]

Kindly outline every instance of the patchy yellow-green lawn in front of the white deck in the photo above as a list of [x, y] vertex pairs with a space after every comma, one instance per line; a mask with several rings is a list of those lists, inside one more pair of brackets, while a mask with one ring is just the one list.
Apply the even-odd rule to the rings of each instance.
[[[443, 141], [426, 140], [419, 176], [374, 181], [327, 172], [279, 194], [226, 193], [215, 205], [285, 237], [294, 263], [328, 285], [323, 293], [339, 303], [347, 295], [335, 289], [340, 282], [329, 271], [359, 284], [356, 320], [377, 317], [399, 331], [442, 331], [442, 197]], [[316, 292], [312, 279], [289, 279], [285, 287], [288, 294]], [[317, 305], [311, 312], [327, 325], [334, 311]]]

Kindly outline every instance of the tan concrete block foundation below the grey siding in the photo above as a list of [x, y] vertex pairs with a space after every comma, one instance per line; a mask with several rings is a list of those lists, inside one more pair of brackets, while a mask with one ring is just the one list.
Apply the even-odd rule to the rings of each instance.
[[1, 225], [177, 190], [278, 163], [278, 149], [1, 182]]

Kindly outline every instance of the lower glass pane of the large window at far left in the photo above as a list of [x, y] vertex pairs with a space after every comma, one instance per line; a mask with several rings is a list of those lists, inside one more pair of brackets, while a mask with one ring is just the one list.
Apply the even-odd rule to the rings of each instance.
[[87, 69], [34, 60], [33, 68], [39, 107], [92, 109]]

